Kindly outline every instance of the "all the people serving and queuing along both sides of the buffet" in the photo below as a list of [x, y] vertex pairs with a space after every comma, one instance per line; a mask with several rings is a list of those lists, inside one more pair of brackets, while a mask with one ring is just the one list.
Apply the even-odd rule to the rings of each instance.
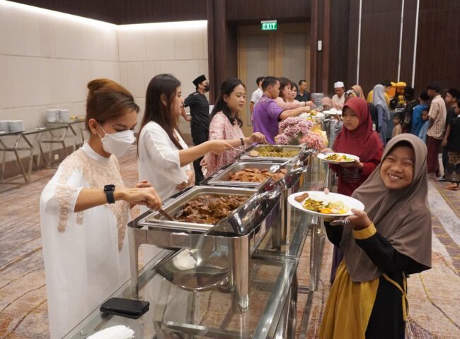
[[[444, 178], [452, 180], [452, 189], [458, 187], [451, 174], [460, 166], [459, 92], [448, 90], [446, 107], [439, 83], [427, 86], [418, 100], [406, 88], [406, 109], [394, 115], [393, 138], [387, 143], [391, 83], [375, 85], [366, 100], [360, 85], [345, 90], [338, 81], [335, 95], [324, 97], [321, 107], [311, 102], [304, 80], [265, 76], [256, 83], [250, 105], [253, 133], [245, 136], [240, 114], [246, 85], [240, 80], [222, 83], [209, 115], [204, 75], [193, 81], [196, 90], [185, 100], [176, 77], [154, 76], [137, 141], [139, 183], [132, 188], [123, 184], [117, 157], [134, 143], [139, 106], [114, 81], [88, 83], [88, 141], [59, 165], [40, 199], [52, 338], [62, 337], [129, 278], [125, 231], [130, 208], [161, 208], [166, 198], [200, 184], [248, 146], [275, 143], [280, 121], [314, 108], [342, 112], [335, 115], [329, 150], [322, 151], [360, 158], [331, 169], [338, 175], [338, 193], [366, 202], [364, 211], [348, 218], [348, 226], [330, 226], [326, 220], [336, 249], [322, 336], [364, 338], [364, 333], [381, 332], [388, 333], [385, 338], [403, 338], [406, 275], [430, 268], [427, 175], [439, 177], [441, 146]], [[184, 107], [190, 107], [190, 117]], [[190, 121], [193, 146], [178, 129], [180, 116]], [[150, 251], [146, 260], [158, 249]], [[382, 322], [389, 311], [394, 312]], [[345, 329], [349, 335], [343, 335]]]

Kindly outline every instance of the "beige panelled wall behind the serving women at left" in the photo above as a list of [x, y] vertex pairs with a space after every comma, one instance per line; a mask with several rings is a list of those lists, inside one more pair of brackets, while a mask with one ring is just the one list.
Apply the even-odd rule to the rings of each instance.
[[30, 129], [49, 108], [84, 116], [94, 78], [125, 85], [143, 112], [157, 73], [177, 76], [184, 95], [194, 90], [193, 78], [207, 75], [206, 22], [117, 26], [0, 2], [0, 120], [24, 120]]

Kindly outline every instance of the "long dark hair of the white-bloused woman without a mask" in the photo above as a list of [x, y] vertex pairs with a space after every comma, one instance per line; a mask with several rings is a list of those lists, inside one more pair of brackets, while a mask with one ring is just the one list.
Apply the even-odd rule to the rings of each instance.
[[[176, 136], [174, 136], [174, 129], [180, 133], [177, 119], [171, 114], [171, 106], [173, 105], [176, 91], [179, 86], [180, 81], [171, 74], [159, 74], [151, 79], [145, 95], [145, 112], [142, 118], [139, 135], [146, 124], [150, 121], [155, 121], [166, 131], [174, 145], [176, 145], [179, 150], [182, 150], [183, 147], [180, 145]], [[166, 95], [166, 106], [161, 102], [161, 95]]]

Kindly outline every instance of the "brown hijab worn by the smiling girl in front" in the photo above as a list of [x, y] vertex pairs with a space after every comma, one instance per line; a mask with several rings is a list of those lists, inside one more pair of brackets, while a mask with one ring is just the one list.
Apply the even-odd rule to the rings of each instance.
[[[382, 162], [398, 146], [408, 142], [415, 153], [414, 177], [403, 189], [387, 189], [380, 176], [381, 164], [367, 180], [352, 194], [364, 203], [364, 210], [374, 222], [377, 232], [385, 237], [401, 254], [419, 263], [418, 273], [431, 267], [431, 213], [428, 205], [427, 147], [420, 138], [403, 133], [386, 145]], [[364, 282], [379, 277], [383, 272], [369, 259], [355, 242], [352, 227], [343, 228], [340, 249], [345, 254], [350, 278]]]

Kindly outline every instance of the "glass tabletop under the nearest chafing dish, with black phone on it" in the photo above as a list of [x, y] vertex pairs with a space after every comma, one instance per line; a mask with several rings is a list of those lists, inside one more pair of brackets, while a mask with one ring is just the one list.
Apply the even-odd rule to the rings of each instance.
[[[134, 320], [97, 309], [64, 338], [86, 338], [115, 325], [132, 328], [136, 338], [183, 338], [171, 333], [200, 338], [274, 338], [282, 333], [280, 338], [287, 338], [287, 307], [296, 268], [295, 258], [252, 260], [250, 295], [255, 302], [241, 314], [235, 311], [229, 292], [219, 288], [186, 291], [163, 279], [150, 266], [139, 277], [144, 281], [139, 297], [150, 302], [146, 314]], [[130, 282], [114, 296], [133, 298]]]

